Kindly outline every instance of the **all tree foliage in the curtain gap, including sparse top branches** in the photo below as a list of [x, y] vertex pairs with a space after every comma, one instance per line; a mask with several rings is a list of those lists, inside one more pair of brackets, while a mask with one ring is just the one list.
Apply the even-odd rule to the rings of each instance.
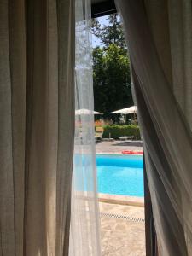
[[108, 26], [101, 28], [97, 20], [93, 30], [102, 47], [93, 49], [93, 84], [95, 109], [108, 113], [133, 104], [130, 61], [125, 38], [117, 15], [109, 15]]

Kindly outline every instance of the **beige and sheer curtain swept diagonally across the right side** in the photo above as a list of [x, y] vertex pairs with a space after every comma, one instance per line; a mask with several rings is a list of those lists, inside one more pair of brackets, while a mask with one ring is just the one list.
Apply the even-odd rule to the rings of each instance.
[[131, 55], [159, 254], [191, 255], [191, 1], [116, 4]]

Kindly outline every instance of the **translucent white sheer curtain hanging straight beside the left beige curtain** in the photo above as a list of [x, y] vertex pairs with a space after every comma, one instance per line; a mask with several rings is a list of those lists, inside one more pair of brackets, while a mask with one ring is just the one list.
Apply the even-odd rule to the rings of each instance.
[[[90, 19], [90, 1], [76, 0], [76, 110], [94, 109]], [[99, 256], [94, 116], [80, 113], [75, 114], [70, 256]]]

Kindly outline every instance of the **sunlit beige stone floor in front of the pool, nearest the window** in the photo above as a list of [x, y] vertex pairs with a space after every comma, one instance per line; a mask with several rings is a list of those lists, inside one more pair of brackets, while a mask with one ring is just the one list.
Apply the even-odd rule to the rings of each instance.
[[[143, 207], [100, 202], [100, 212], [116, 216], [101, 214], [102, 256], [145, 256], [144, 222], [141, 221], [144, 218]], [[124, 219], [122, 216], [135, 217], [138, 221]]]

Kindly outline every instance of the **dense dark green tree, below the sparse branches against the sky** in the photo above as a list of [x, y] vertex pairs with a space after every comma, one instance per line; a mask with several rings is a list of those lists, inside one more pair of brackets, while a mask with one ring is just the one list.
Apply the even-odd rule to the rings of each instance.
[[133, 104], [130, 61], [117, 44], [93, 49], [94, 100], [97, 111], [108, 115]]

